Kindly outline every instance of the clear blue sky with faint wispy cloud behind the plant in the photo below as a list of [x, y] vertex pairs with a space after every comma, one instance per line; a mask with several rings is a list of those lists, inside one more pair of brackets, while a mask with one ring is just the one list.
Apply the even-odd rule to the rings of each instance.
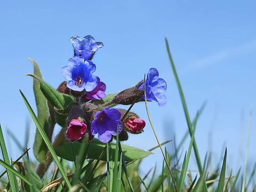
[[[152, 67], [167, 82], [164, 107], [149, 110], [160, 141], [179, 143], [187, 131], [185, 116], [168, 61], [165, 37], [184, 91], [191, 119], [207, 102], [195, 133], [201, 159], [213, 152], [213, 163], [228, 149], [235, 173], [245, 158], [250, 106], [256, 106], [256, 3], [254, 1], [5, 1], [0, 6], [0, 123], [24, 140], [29, 113], [19, 93], [36, 109], [28, 57], [54, 88], [64, 81], [60, 69], [72, 57], [73, 35], [92, 35], [104, 43], [93, 62], [106, 93], [134, 86]], [[128, 108], [127, 106], [122, 106]], [[146, 120], [144, 133], [126, 144], [150, 149], [157, 144], [145, 104], [133, 108]], [[252, 115], [249, 166], [255, 163], [255, 113]], [[30, 147], [34, 138], [31, 134]], [[59, 128], [56, 128], [59, 129]], [[241, 143], [241, 145], [240, 145]], [[15, 146], [10, 141], [11, 146]], [[189, 139], [184, 143], [188, 149]], [[13, 158], [20, 155], [15, 149]], [[238, 155], [242, 149], [241, 158]], [[170, 145], [168, 146], [171, 150]], [[162, 162], [160, 151], [145, 159], [142, 172]], [[194, 157], [191, 157], [192, 159]], [[196, 168], [192, 160], [191, 168]], [[159, 165], [160, 166], [160, 165]]]

